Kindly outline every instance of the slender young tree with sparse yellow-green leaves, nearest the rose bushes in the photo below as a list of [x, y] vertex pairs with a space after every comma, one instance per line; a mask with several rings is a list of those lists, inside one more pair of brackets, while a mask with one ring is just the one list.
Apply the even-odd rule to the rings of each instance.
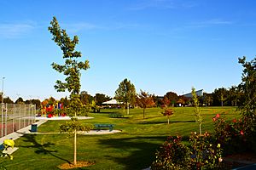
[[202, 122], [202, 116], [201, 116], [201, 109], [199, 107], [199, 101], [197, 99], [197, 95], [195, 93], [195, 88], [192, 88], [192, 100], [193, 100], [193, 103], [194, 103], [194, 107], [195, 107], [195, 121], [198, 122], [199, 124], [199, 133], [201, 135], [201, 122]]

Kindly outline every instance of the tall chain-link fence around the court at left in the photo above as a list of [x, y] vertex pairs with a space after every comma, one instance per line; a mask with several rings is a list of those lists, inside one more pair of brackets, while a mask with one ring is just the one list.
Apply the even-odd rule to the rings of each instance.
[[0, 135], [3, 137], [35, 122], [36, 105], [1, 104], [0, 113]]

